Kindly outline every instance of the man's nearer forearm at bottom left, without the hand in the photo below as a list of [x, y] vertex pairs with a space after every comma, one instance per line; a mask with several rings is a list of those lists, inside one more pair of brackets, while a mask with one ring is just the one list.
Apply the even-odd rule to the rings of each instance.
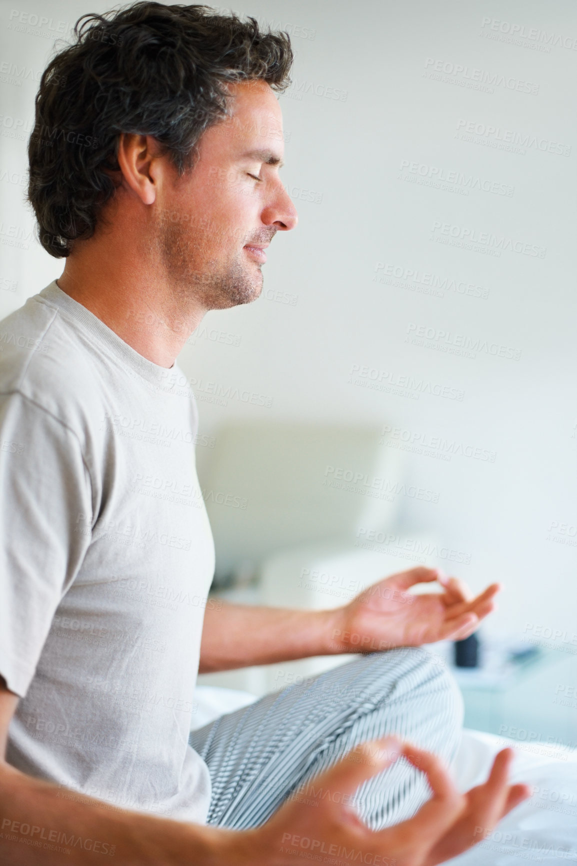
[[[250, 834], [124, 811], [0, 764], [0, 863], [229, 866]], [[234, 837], [234, 838], [233, 838]], [[230, 856], [234, 842], [238, 858]]]

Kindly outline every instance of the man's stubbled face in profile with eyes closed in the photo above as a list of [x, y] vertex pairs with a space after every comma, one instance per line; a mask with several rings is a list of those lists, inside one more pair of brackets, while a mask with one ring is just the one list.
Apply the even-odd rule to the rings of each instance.
[[151, 242], [183, 301], [205, 309], [254, 301], [276, 232], [293, 229], [296, 210], [279, 177], [282, 114], [264, 81], [230, 86], [231, 116], [204, 132], [194, 168], [169, 173], [152, 209]]

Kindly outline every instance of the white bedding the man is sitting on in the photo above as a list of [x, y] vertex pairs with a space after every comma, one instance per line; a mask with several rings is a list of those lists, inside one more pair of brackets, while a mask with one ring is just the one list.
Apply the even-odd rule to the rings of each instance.
[[[194, 726], [246, 707], [255, 695], [232, 688], [198, 686]], [[487, 778], [493, 757], [515, 748], [512, 780], [535, 786], [532, 798], [510, 812], [489, 839], [453, 858], [451, 866], [522, 866], [524, 862], [577, 863], [577, 750], [534, 744], [523, 748], [493, 734], [464, 730], [453, 772], [459, 790]]]

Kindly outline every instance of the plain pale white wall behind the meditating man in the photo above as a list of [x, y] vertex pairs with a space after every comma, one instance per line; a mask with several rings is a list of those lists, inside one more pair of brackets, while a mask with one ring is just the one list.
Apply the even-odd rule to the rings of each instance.
[[[3, 61], [23, 70], [0, 85], [2, 314], [62, 271], [29, 238], [18, 183], [26, 136], [10, 135], [16, 120], [30, 128], [34, 79], [58, 23], [108, 7], [2, 5]], [[247, 0], [235, 9], [294, 34], [295, 83], [281, 98], [282, 174], [300, 224], [272, 244], [263, 296], [210, 313], [181, 354], [198, 380], [201, 432], [214, 434], [230, 417], [354, 419], [410, 431], [402, 435], [417, 443], [441, 437], [457, 450], [496, 455], [407, 453], [412, 479], [440, 495], [437, 504], [410, 503], [406, 518], [470, 556], [457, 571], [474, 587], [505, 583], [493, 630], [521, 633], [530, 623], [573, 635], [574, 3]], [[34, 14], [52, 21], [31, 28], [26, 16]], [[11, 29], [19, 21], [23, 32]], [[440, 172], [472, 183], [447, 188]], [[15, 231], [22, 249], [10, 246]], [[463, 243], [471, 237], [474, 244]], [[406, 288], [387, 276], [392, 268], [418, 276]], [[447, 281], [440, 294], [421, 291], [431, 275]], [[463, 294], [467, 286], [483, 296]], [[292, 305], [274, 300], [289, 295]], [[470, 339], [480, 348], [466, 357], [440, 351], [444, 338], [407, 341], [420, 326], [450, 333], [453, 346]], [[239, 345], [210, 339], [211, 329], [236, 335]], [[491, 354], [498, 346], [515, 358]], [[361, 376], [363, 367], [372, 372]], [[349, 381], [353, 368], [358, 385]], [[364, 386], [371, 375], [383, 389]], [[413, 381], [409, 393], [387, 387], [404, 377], [421, 385]], [[209, 381], [272, 397], [272, 406], [211, 404]], [[204, 454], [198, 460], [202, 469]]]

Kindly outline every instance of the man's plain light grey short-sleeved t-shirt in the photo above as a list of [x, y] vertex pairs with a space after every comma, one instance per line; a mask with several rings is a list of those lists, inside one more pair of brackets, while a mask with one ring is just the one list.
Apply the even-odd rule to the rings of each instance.
[[55, 282], [0, 322], [0, 674], [22, 698], [12, 766], [202, 824], [214, 546], [183, 379]]

